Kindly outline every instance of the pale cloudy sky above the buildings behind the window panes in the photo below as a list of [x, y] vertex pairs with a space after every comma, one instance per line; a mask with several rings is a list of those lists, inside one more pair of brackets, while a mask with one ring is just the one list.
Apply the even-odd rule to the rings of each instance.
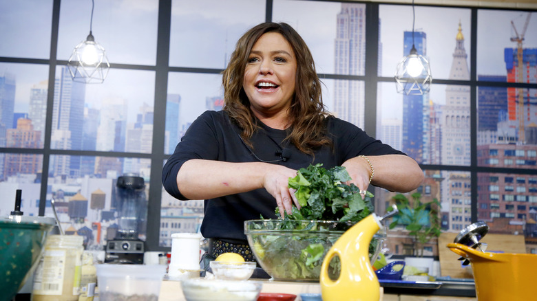
[[[234, 0], [233, 3], [235, 5], [230, 5], [230, 1], [224, 3], [215, 0], [173, 1], [170, 64], [180, 67], [224, 67], [238, 37], [249, 27], [264, 21], [265, 16], [262, 0]], [[330, 74], [334, 69], [333, 49], [339, 10], [341, 4], [335, 2], [275, 0], [273, 20], [286, 21], [295, 27], [310, 47], [317, 71]], [[89, 0], [62, 1], [59, 59], [67, 60], [74, 45], [83, 41], [89, 33], [90, 12]], [[0, 56], [48, 58], [52, 0], [0, 0], [0, 16], [0, 41], [10, 41], [0, 43]], [[515, 46], [509, 41], [512, 34], [510, 22], [514, 21], [520, 30], [525, 16], [523, 12], [479, 10], [478, 74], [505, 74], [503, 49]], [[381, 76], [391, 77], [403, 56], [403, 31], [412, 30], [412, 7], [380, 5], [379, 17]], [[105, 47], [110, 63], [154, 65], [157, 18], [157, 0], [96, 0], [92, 34]], [[470, 9], [415, 8], [414, 28], [427, 34], [433, 78], [448, 78], [459, 22], [465, 37], [465, 49], [470, 54]], [[536, 13], [529, 21], [525, 47], [537, 47], [535, 32]], [[25, 38], [21, 38], [23, 36]], [[43, 66], [0, 63], [0, 74], [4, 71], [14, 72], [17, 76], [16, 111], [28, 107], [28, 87], [48, 77], [48, 67]], [[88, 86], [87, 100], [98, 105], [107, 93], [121, 95], [127, 98], [129, 109], [136, 112], [144, 102], [153, 101], [154, 89], [152, 85], [145, 85], [146, 82], [154, 82], [151, 71], [112, 69], [103, 85]], [[327, 80], [326, 84], [328, 90], [332, 88], [330, 81]], [[394, 84], [386, 83], [382, 87], [383, 99], [401, 98], [395, 92]], [[204, 110], [205, 97], [218, 96], [220, 76], [170, 74], [168, 93], [182, 96], [182, 122], [189, 122]], [[445, 86], [433, 85], [430, 97], [434, 102], [442, 103]], [[330, 98], [330, 91], [325, 98]], [[330, 103], [329, 99], [326, 101]], [[195, 105], [188, 106], [187, 103]], [[402, 111], [394, 107], [401, 105], [400, 102], [383, 104], [386, 108], [381, 110], [384, 114], [382, 118], [397, 117], [395, 115]]]

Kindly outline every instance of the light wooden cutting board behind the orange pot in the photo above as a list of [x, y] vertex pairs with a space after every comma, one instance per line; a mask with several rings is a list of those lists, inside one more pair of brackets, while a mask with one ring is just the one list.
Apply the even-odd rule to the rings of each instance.
[[[458, 232], [443, 232], [438, 238], [439, 261], [441, 276], [452, 278], [473, 278], [470, 265], [461, 267], [461, 256], [452, 252], [446, 245], [453, 243]], [[526, 243], [523, 235], [487, 234], [480, 241], [487, 243], [487, 251], [502, 251], [505, 253], [526, 253]]]

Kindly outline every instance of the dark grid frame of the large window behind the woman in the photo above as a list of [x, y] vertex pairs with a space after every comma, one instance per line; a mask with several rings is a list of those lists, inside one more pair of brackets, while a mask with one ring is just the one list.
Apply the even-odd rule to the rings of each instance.
[[[313, 0], [319, 1], [319, 0]], [[328, 1], [328, 0], [327, 0]], [[169, 66], [169, 46], [170, 46], [170, 29], [171, 29], [171, 2], [172, 0], [159, 0], [158, 11], [158, 36], [157, 36], [157, 49], [156, 49], [156, 65], [127, 65], [116, 64], [111, 62], [112, 69], [133, 69], [133, 70], [151, 70], [155, 71], [155, 92], [154, 92], [154, 115], [165, 116], [166, 115], [166, 101], [167, 101], [167, 87], [168, 87], [168, 74], [169, 72], [190, 72], [190, 73], [206, 73], [206, 74], [220, 74], [221, 69], [207, 69], [207, 68], [191, 68], [191, 67], [170, 67]], [[381, 77], [377, 74], [378, 70], [378, 55], [379, 55], [379, 5], [410, 5], [401, 1], [401, 3], [381, 3], [364, 1], [357, 3], [366, 4], [366, 66], [364, 76], [346, 76], [337, 74], [319, 74], [319, 78], [333, 79], [333, 80], [362, 80], [365, 87], [365, 108], [364, 108], [364, 130], [369, 135], [375, 137], [376, 135], [376, 122], [377, 122], [377, 85], [383, 82], [389, 82], [393, 84], [393, 78]], [[54, 0], [52, 8], [52, 34], [50, 43], [50, 58], [48, 59], [36, 59], [36, 58], [14, 58], [14, 57], [0, 57], [0, 63], [32, 63], [40, 65], [48, 65], [48, 98], [47, 98], [47, 115], [45, 119], [45, 133], [44, 133], [44, 145], [39, 149], [25, 149], [25, 148], [0, 148], [0, 153], [21, 153], [21, 154], [39, 154], [43, 155], [43, 170], [49, 170], [50, 157], [53, 155], [74, 155], [74, 156], [102, 156], [102, 157], [138, 157], [142, 159], [151, 160], [151, 177], [149, 182], [149, 207], [148, 207], [148, 219], [147, 219], [147, 241], [146, 249], [148, 251], [169, 251], [169, 247], [160, 247], [159, 238], [162, 235], [160, 233], [160, 206], [161, 206], [161, 172], [162, 162], [169, 158], [169, 155], [165, 155], [165, 119], [155, 118], [154, 120], [154, 133], [152, 141], [152, 152], [148, 153], [118, 153], [118, 152], [103, 152], [103, 151], [86, 151], [86, 150], [54, 150], [50, 147], [51, 138], [51, 126], [52, 124], [52, 108], [54, 105], [54, 79], [56, 78], [56, 67], [67, 65], [66, 60], [57, 60], [56, 55], [58, 52], [58, 34], [59, 34], [59, 16], [61, 0]], [[431, 7], [445, 7], [443, 5], [433, 4], [420, 4], [423, 6]], [[266, 21], [272, 20], [272, 6], [273, 0], [266, 0]], [[470, 28], [470, 80], [447, 80], [447, 79], [433, 79], [434, 84], [439, 85], [459, 85], [470, 87], [470, 141], [471, 141], [471, 164], [470, 166], [446, 166], [446, 165], [429, 165], [421, 164], [421, 168], [425, 170], [459, 170], [462, 172], [470, 172], [470, 192], [471, 192], [471, 210], [472, 210], [472, 222], [478, 220], [478, 173], [496, 173], [496, 174], [516, 174], [516, 175], [537, 175], [536, 169], [525, 168], [525, 165], [518, 164], [514, 167], [498, 167], [498, 166], [478, 166], [477, 155], [477, 89], [478, 87], [516, 87], [526, 89], [536, 89], [537, 84], [520, 84], [512, 82], [487, 82], [483, 80], [477, 80], [477, 14], [478, 10], [516, 10], [516, 11], [531, 11], [536, 12], [535, 9], [529, 8], [494, 8], [485, 6], [472, 6], [472, 5], [453, 5], [450, 8], [467, 8], [471, 10], [471, 28]], [[522, 163], [521, 161], [518, 163]], [[41, 176], [41, 192], [39, 201], [39, 214], [43, 215], [45, 212], [45, 203], [47, 195], [47, 183], [49, 177], [48, 172], [43, 172]], [[484, 193], [484, 192], [481, 192]], [[528, 201], [532, 202], [537, 197], [529, 197]], [[492, 216], [492, 213], [491, 213]]]

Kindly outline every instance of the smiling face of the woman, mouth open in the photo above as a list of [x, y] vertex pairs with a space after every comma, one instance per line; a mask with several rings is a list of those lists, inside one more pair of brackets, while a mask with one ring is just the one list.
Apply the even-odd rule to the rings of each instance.
[[286, 112], [295, 93], [296, 72], [295, 53], [282, 34], [267, 32], [255, 42], [242, 87], [257, 117]]

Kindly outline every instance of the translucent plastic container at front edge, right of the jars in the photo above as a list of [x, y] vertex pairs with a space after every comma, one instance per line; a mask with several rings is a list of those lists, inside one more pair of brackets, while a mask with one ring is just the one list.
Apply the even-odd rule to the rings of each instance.
[[96, 265], [100, 301], [157, 301], [165, 265]]

